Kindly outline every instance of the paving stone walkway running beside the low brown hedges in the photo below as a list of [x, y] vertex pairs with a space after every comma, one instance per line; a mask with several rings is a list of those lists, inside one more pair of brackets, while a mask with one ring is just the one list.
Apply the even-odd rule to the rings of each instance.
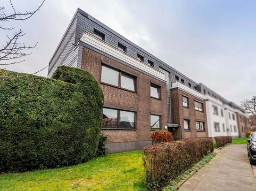
[[247, 145], [229, 145], [190, 177], [179, 191], [256, 191]]

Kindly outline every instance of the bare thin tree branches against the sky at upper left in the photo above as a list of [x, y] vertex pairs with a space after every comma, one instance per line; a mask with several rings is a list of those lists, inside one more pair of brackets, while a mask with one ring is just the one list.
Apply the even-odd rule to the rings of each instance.
[[[0, 6], [0, 23], [10, 22], [13, 20], [22, 21], [22, 20], [29, 19], [41, 8], [44, 1], [45, 0], [42, 0], [41, 5], [39, 5], [38, 8], [32, 12], [28, 12], [28, 11], [20, 12], [15, 9], [12, 1], [10, 0], [12, 13], [9, 13], [9, 14], [5, 13], [4, 11], [5, 8]], [[7, 28], [0, 24], [0, 30], [2, 31], [10, 31], [13, 29], [15, 29], [15, 27]], [[25, 60], [19, 60], [19, 59], [24, 56], [30, 55], [32, 53], [32, 52], [26, 53], [26, 51], [36, 47], [37, 42], [33, 46], [26, 46], [24, 42], [20, 42], [20, 38], [24, 37], [25, 34], [26, 33], [24, 31], [19, 30], [19, 31], [15, 31], [11, 37], [6, 35], [7, 36], [6, 44], [0, 46], [0, 66], [12, 65], [12, 64], [23, 62]], [[38, 72], [35, 72], [35, 73], [38, 73]]]

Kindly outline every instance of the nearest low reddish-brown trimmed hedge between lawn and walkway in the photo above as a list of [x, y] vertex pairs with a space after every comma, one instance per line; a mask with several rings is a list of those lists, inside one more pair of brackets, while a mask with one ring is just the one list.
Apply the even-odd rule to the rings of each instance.
[[147, 187], [153, 191], [161, 190], [213, 150], [212, 138], [191, 138], [145, 147], [142, 159]]

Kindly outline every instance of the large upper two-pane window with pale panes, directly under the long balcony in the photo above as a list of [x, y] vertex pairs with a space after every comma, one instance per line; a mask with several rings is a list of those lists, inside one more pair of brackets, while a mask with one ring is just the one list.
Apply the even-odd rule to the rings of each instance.
[[135, 77], [105, 65], [101, 67], [101, 82], [135, 92]]

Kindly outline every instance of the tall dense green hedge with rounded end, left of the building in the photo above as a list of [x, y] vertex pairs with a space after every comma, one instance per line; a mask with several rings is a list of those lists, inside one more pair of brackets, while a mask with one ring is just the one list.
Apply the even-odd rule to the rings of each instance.
[[58, 67], [52, 79], [0, 78], [0, 172], [89, 160], [99, 144], [102, 107], [99, 84], [81, 69]]

